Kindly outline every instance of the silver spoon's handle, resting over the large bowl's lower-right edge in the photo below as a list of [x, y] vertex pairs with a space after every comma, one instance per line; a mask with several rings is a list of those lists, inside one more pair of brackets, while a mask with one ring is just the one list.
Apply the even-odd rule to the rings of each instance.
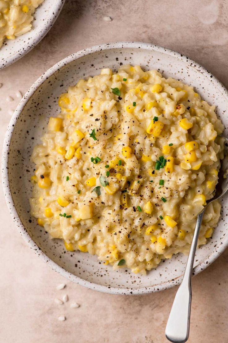
[[165, 329], [166, 338], [173, 343], [184, 343], [188, 340], [189, 336], [191, 311], [191, 275], [204, 211], [205, 208], [197, 217], [185, 273], [173, 301], [173, 306], [170, 311], [170, 316]]

